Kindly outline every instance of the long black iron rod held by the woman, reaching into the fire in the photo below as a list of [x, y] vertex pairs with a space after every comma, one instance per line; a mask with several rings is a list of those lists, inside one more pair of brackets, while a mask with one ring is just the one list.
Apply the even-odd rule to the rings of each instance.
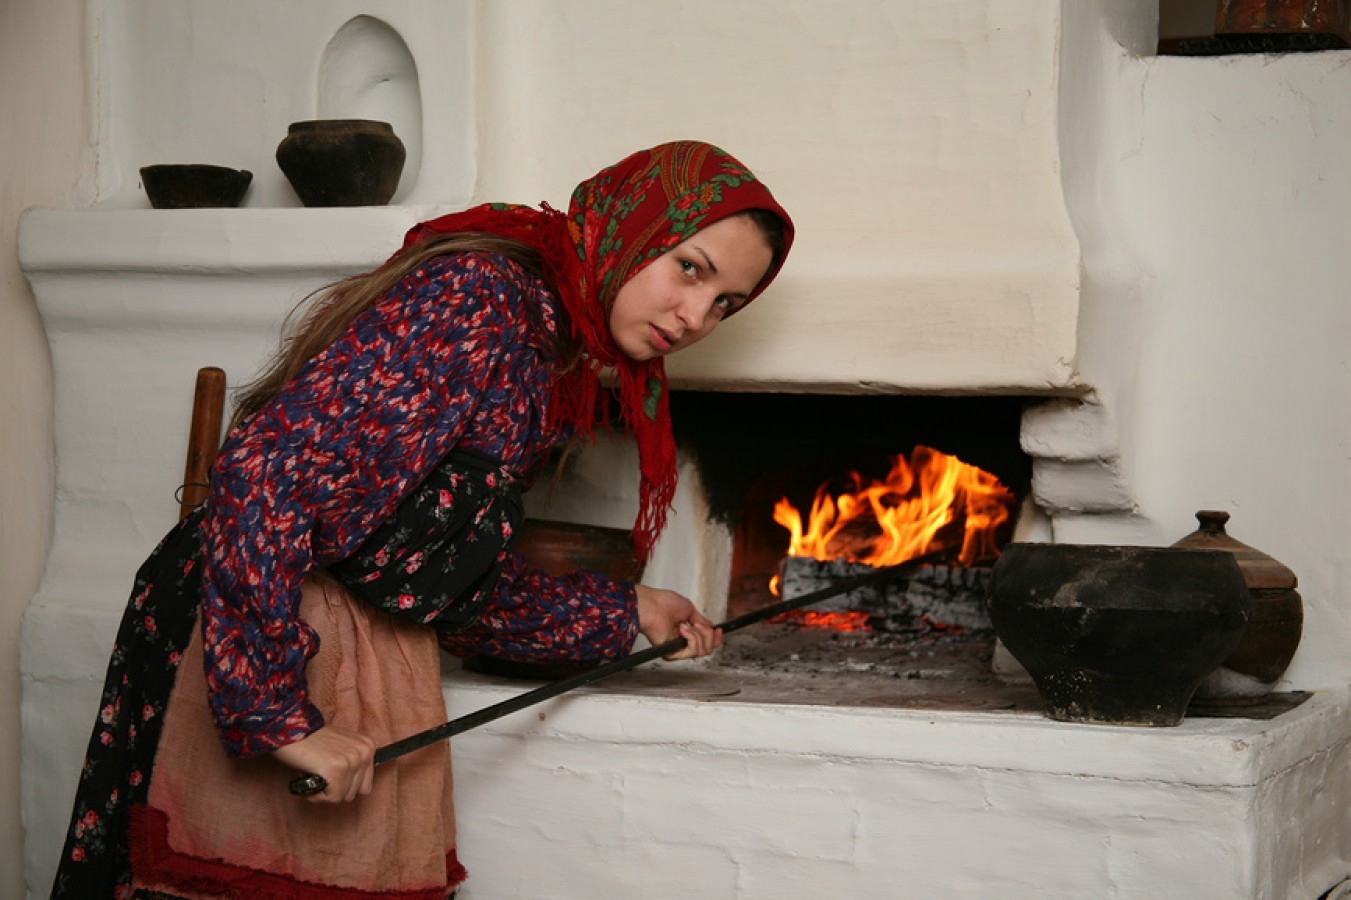
[[[842, 593], [848, 593], [850, 591], [857, 591], [858, 588], [866, 588], [874, 584], [889, 581], [896, 576], [911, 572], [920, 568], [921, 565], [935, 562], [942, 557], [948, 555], [950, 551], [939, 550], [935, 553], [927, 553], [921, 557], [915, 557], [913, 559], [907, 559], [894, 566], [885, 566], [874, 572], [867, 572], [851, 578], [844, 578], [836, 581], [828, 588], [821, 588], [820, 591], [812, 591], [811, 593], [804, 593], [800, 597], [793, 597], [790, 600], [780, 600], [778, 603], [754, 609], [744, 615], [739, 615], [735, 619], [728, 619], [727, 622], [715, 626], [721, 628], [723, 634], [731, 631], [738, 631], [746, 626], [755, 624], [757, 622], [763, 622], [765, 619], [773, 619], [777, 615], [790, 612], [793, 609], [800, 609], [802, 607], [809, 607], [813, 603], [820, 603], [821, 600], [828, 600], [830, 597], [836, 597]], [[450, 722], [442, 723], [439, 726], [432, 726], [426, 731], [419, 731], [415, 735], [403, 738], [401, 741], [394, 741], [376, 750], [376, 765], [389, 762], [390, 759], [397, 759], [399, 757], [407, 755], [423, 747], [431, 746], [446, 738], [451, 738], [457, 734], [469, 731], [470, 728], [477, 728], [481, 724], [486, 724], [494, 719], [501, 719], [505, 715], [524, 709], [526, 707], [532, 707], [536, 703], [543, 703], [551, 697], [557, 697], [561, 693], [573, 691], [574, 688], [581, 688], [584, 685], [592, 684], [593, 681], [600, 681], [601, 678], [608, 678], [612, 674], [627, 672], [644, 662], [651, 662], [658, 657], [667, 657], [677, 653], [685, 647], [685, 638], [674, 638], [665, 643], [659, 643], [646, 650], [639, 650], [620, 659], [603, 664], [594, 669], [588, 669], [574, 676], [566, 678], [559, 678], [558, 681], [551, 681], [550, 684], [535, 688], [534, 691], [527, 691], [515, 697], [503, 700], [501, 703], [494, 703], [482, 709], [474, 712], [467, 712], [458, 719], [451, 719]], [[297, 796], [308, 796], [312, 793], [320, 793], [328, 782], [324, 781], [322, 776], [304, 774], [290, 781], [290, 792]]]

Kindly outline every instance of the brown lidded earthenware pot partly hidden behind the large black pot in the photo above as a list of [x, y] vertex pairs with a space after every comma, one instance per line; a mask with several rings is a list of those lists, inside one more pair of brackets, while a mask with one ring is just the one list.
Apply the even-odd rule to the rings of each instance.
[[1300, 649], [1304, 600], [1294, 589], [1300, 580], [1285, 564], [1231, 538], [1224, 527], [1229, 520], [1228, 512], [1201, 509], [1196, 514], [1196, 520], [1201, 527], [1173, 546], [1232, 553], [1252, 596], [1248, 627], [1221, 666], [1239, 677], [1231, 678], [1216, 670], [1213, 678], [1202, 682], [1198, 696], [1231, 701], [1239, 693], [1260, 699], [1285, 673], [1294, 651]]

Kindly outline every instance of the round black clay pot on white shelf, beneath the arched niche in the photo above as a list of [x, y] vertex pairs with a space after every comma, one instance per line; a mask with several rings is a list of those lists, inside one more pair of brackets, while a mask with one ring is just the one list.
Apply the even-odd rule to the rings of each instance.
[[388, 122], [295, 122], [277, 165], [307, 207], [381, 207], [399, 188], [407, 151]]

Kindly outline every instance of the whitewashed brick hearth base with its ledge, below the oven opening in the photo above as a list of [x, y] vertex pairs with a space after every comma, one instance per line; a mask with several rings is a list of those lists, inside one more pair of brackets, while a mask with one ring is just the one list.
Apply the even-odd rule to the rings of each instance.
[[[458, 673], [446, 697], [521, 689]], [[1351, 859], [1348, 715], [1346, 692], [1154, 730], [590, 689], [454, 739], [463, 896], [1315, 897]]]

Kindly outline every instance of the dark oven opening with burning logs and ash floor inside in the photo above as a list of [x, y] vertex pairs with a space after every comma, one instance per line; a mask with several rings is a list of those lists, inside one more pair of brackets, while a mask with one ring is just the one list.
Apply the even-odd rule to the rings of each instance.
[[[712, 668], [785, 701], [1012, 708], [984, 597], [1031, 486], [1021, 397], [674, 392], [728, 618], [905, 559], [912, 574], [727, 636]], [[770, 685], [778, 685], [771, 688]], [[1012, 693], [1011, 693], [1012, 691]]]

